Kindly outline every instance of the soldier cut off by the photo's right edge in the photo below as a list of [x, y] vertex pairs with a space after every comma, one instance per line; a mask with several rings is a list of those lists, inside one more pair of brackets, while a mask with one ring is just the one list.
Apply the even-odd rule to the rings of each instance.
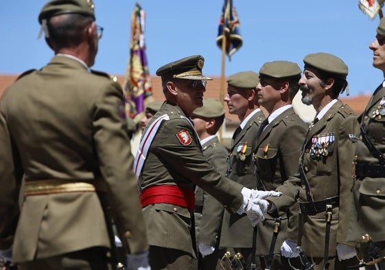
[[[375, 40], [369, 45], [373, 51], [373, 67], [385, 77], [385, 19], [377, 27]], [[364, 112], [358, 117], [359, 131], [355, 135], [355, 161], [353, 175], [353, 214], [348, 240], [358, 241], [369, 234], [377, 251], [366, 256], [384, 258], [384, 183], [385, 183], [385, 84], [384, 78], [375, 89]], [[367, 238], [366, 238], [367, 239]], [[378, 262], [385, 269], [385, 260]], [[378, 268], [377, 269], [380, 269]], [[366, 269], [375, 269], [367, 266]]]

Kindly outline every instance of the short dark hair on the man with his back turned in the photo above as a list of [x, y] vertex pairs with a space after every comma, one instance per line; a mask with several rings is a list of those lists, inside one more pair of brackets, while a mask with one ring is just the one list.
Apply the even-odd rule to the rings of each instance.
[[83, 41], [84, 29], [94, 19], [82, 14], [62, 14], [60, 20], [47, 22], [49, 40], [58, 47], [77, 46]]

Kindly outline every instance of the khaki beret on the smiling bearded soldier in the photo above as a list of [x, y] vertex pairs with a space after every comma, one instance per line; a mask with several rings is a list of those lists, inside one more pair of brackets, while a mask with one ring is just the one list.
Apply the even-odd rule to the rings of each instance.
[[303, 63], [310, 65], [315, 69], [335, 75], [337, 78], [346, 80], [348, 74], [347, 65], [333, 54], [318, 52], [316, 54], [307, 54], [303, 58]]

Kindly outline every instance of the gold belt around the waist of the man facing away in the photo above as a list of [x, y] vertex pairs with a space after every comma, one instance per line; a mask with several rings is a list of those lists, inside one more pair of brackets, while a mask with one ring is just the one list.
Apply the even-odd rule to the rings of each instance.
[[93, 183], [64, 179], [26, 180], [24, 196], [66, 192], [95, 192]]

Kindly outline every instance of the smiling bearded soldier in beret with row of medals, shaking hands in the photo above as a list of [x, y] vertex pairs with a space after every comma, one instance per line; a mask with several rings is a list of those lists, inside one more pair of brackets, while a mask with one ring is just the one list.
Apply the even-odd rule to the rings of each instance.
[[338, 100], [347, 87], [348, 67], [325, 53], [308, 54], [303, 63], [302, 102], [314, 106], [316, 117], [301, 146], [299, 172], [277, 188], [283, 192], [280, 199], [268, 200], [274, 203], [272, 209], [281, 211], [299, 198], [298, 234], [288, 234], [283, 254], [293, 256], [301, 245], [314, 269], [347, 269], [357, 263], [354, 243], [346, 240], [353, 161], [349, 133], [354, 131], [356, 117]]

